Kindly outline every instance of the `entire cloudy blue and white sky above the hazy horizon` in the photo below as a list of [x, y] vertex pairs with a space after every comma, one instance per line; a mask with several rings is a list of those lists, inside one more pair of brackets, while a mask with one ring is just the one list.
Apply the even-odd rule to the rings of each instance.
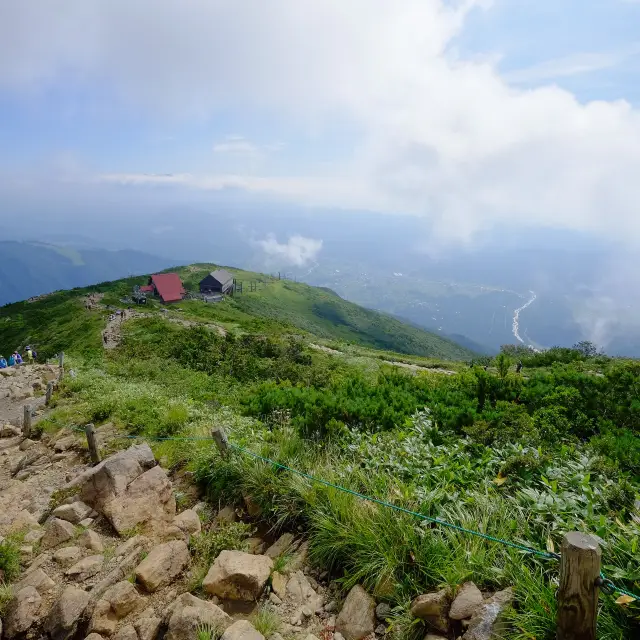
[[442, 243], [635, 247], [639, 175], [638, 0], [0, 4], [5, 189], [233, 187]]

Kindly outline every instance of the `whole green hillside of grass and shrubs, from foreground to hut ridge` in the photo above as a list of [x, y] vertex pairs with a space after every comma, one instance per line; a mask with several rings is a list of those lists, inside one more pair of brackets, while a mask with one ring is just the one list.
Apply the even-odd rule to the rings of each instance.
[[[187, 288], [210, 269], [181, 270]], [[473, 362], [329, 291], [236, 277], [245, 293], [219, 304], [150, 303], [108, 351], [107, 305], [122, 307], [141, 279], [9, 305], [0, 350], [30, 341], [47, 356], [66, 352], [74, 377], [40, 423], [47, 431], [113, 422], [128, 435], [183, 438], [158, 442], [157, 456], [191, 472], [215, 503], [241, 508], [249, 496], [269, 525], [301, 527], [313, 562], [342, 588], [360, 583], [391, 606], [387, 637], [423, 638], [411, 600], [472, 580], [514, 587], [504, 637], [551, 640], [558, 563], [188, 438], [223, 426], [256, 455], [542, 552], [557, 552], [567, 531], [589, 532], [606, 575], [640, 591], [640, 363], [588, 344]], [[89, 292], [104, 297], [88, 309]], [[598, 637], [638, 637], [637, 601], [616, 597], [601, 595]]]

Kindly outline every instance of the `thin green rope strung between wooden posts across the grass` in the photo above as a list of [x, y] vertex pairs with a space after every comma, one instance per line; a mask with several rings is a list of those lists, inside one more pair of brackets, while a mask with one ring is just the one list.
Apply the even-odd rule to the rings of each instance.
[[[91, 428], [93, 428], [93, 425], [88, 425], [91, 426]], [[82, 433], [87, 433], [87, 428], [82, 428], [82, 427], [71, 427], [71, 429], [73, 431], [78, 431], [78, 432], [82, 432]], [[404, 513], [410, 516], [413, 516], [415, 518], [418, 518], [420, 520], [423, 520], [425, 522], [429, 522], [431, 524], [435, 524], [441, 527], [446, 527], [449, 529], [453, 529], [455, 531], [459, 531], [460, 533], [464, 533], [467, 535], [471, 535], [471, 536], [475, 536], [478, 538], [482, 538], [484, 540], [488, 540], [489, 542], [495, 542], [498, 544], [502, 544], [505, 547], [509, 547], [511, 549], [516, 549], [517, 551], [521, 551], [523, 553], [528, 553], [531, 555], [534, 555], [536, 557], [539, 558], [543, 558], [545, 560], [562, 560], [562, 556], [559, 553], [553, 553], [550, 551], [541, 551], [539, 549], [534, 549], [533, 547], [529, 547], [527, 545], [523, 545], [523, 544], [519, 544], [517, 542], [512, 542], [510, 540], [504, 540], [503, 538], [498, 538], [496, 536], [492, 536], [489, 535], [487, 533], [483, 533], [481, 531], [475, 531], [474, 529], [468, 529], [466, 527], [463, 527], [461, 525], [457, 525], [451, 522], [447, 522], [446, 520], [442, 520], [441, 518], [435, 518], [432, 516], [427, 516], [423, 513], [419, 513], [418, 511], [412, 511], [411, 509], [407, 509], [405, 507], [401, 507], [397, 504], [393, 504], [392, 502], [387, 502], [386, 500], [380, 500], [379, 498], [374, 498], [373, 496], [368, 496], [364, 493], [360, 493], [358, 491], [354, 491], [353, 489], [349, 489], [347, 487], [343, 487], [339, 484], [335, 484], [333, 482], [329, 482], [328, 480], [324, 480], [322, 478], [318, 478], [316, 476], [313, 476], [309, 473], [306, 473], [304, 471], [300, 471], [299, 469], [294, 469], [293, 467], [290, 467], [286, 464], [282, 464], [281, 462], [278, 462], [276, 460], [272, 460], [271, 458], [267, 458], [265, 456], [262, 456], [258, 453], [255, 453], [254, 451], [251, 451], [250, 449], [247, 449], [245, 447], [241, 447], [240, 445], [237, 444], [233, 444], [231, 442], [229, 442], [226, 439], [226, 435], [224, 435], [224, 432], [222, 432], [221, 429], [217, 429], [217, 431], [219, 433], [222, 433], [222, 435], [218, 435], [218, 437], [214, 437], [214, 436], [171, 436], [171, 437], [162, 437], [162, 436], [139, 436], [139, 435], [126, 435], [126, 434], [118, 434], [116, 436], [114, 436], [115, 438], [118, 439], [126, 439], [126, 440], [151, 440], [151, 441], [155, 441], [155, 442], [167, 442], [167, 441], [178, 441], [178, 442], [205, 442], [205, 441], [210, 441], [210, 442], [214, 442], [216, 444], [216, 446], [218, 447], [218, 449], [220, 449], [220, 451], [225, 454], [227, 453], [228, 449], [237, 451], [241, 454], [247, 455], [249, 457], [254, 458], [255, 460], [259, 460], [261, 462], [264, 462], [265, 464], [269, 464], [272, 465], [274, 467], [276, 467], [277, 469], [282, 469], [283, 471], [288, 471], [289, 473], [293, 473], [295, 475], [298, 475], [302, 478], [305, 478], [306, 480], [309, 480], [310, 482], [315, 482], [317, 484], [323, 485], [325, 487], [329, 487], [331, 489], [335, 489], [336, 491], [340, 491], [342, 493], [345, 494], [349, 494], [352, 496], [355, 496], [356, 498], [360, 498], [361, 500], [365, 500], [367, 502], [371, 502], [373, 504], [377, 504], [380, 505], [382, 507], [385, 507], [387, 509], [392, 509], [396, 512], [399, 513]], [[597, 586], [607, 595], [613, 595], [615, 593], [620, 593], [622, 595], [626, 595], [629, 596], [630, 598], [633, 598], [634, 600], [640, 601], [640, 596], [636, 595], [635, 593], [628, 591], [622, 587], [619, 587], [618, 585], [616, 585], [612, 580], [608, 579], [605, 574], [600, 571], [599, 573], [599, 578], [596, 580]]]

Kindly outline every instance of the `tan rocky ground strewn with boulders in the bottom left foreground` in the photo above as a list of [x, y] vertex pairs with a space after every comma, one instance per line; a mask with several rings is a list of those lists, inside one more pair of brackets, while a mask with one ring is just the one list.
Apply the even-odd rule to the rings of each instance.
[[[97, 431], [102, 447], [116, 435], [111, 425]], [[226, 507], [204, 525], [203, 503], [176, 513], [173, 481], [146, 444], [92, 467], [77, 432], [38, 442], [18, 434], [0, 427], [0, 535], [16, 540], [22, 565], [3, 638], [195, 640], [215, 626], [225, 640], [264, 640], [259, 611], [280, 630], [270, 640], [334, 637], [337, 587], [307, 565], [302, 539], [285, 533], [222, 551], [190, 593], [199, 562], [190, 540], [246, 513]], [[361, 596], [369, 631], [375, 603]]]

